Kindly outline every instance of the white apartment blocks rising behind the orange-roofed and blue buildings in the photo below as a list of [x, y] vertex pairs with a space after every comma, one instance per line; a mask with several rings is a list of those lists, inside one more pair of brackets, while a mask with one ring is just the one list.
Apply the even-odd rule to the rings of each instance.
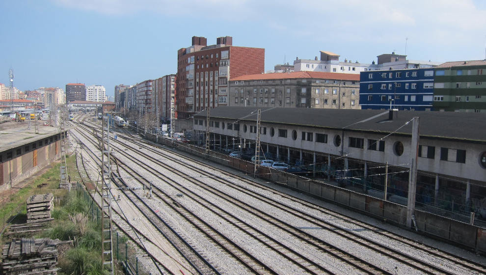
[[440, 65], [440, 62], [407, 60], [406, 55], [395, 53], [378, 55], [378, 63], [359, 63], [344, 59], [339, 61], [339, 56], [331, 52], [321, 51], [321, 59], [316, 56], [314, 59], [297, 59], [294, 61], [294, 70], [312, 72], [331, 72], [345, 74], [359, 74], [365, 71], [388, 70], [388, 69], [416, 69], [430, 68]]

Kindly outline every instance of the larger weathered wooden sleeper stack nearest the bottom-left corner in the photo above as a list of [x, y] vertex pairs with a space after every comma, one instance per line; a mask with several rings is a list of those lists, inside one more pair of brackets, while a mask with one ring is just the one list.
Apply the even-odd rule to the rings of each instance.
[[12, 239], [3, 246], [0, 274], [57, 274], [57, 245], [65, 243], [51, 239]]

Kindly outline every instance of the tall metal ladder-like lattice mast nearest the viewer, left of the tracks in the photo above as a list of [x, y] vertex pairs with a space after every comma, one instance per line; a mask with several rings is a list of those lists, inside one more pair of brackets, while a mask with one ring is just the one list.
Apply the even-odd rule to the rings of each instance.
[[111, 163], [109, 145], [109, 122], [102, 121], [101, 139], [101, 263], [113, 275], [113, 243], [111, 242]]

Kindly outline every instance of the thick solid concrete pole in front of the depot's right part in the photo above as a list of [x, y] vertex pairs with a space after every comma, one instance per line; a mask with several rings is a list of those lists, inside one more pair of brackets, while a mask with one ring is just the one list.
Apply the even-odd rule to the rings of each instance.
[[413, 117], [412, 123], [412, 144], [410, 147], [410, 172], [408, 173], [408, 203], [406, 209], [406, 226], [411, 228], [412, 219], [415, 219], [413, 212], [415, 210], [415, 191], [417, 187], [417, 161], [418, 161], [418, 143], [419, 143], [420, 117]]

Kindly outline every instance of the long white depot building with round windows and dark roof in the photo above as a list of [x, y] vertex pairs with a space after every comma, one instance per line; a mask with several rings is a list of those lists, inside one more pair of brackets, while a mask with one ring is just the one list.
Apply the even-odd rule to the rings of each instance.
[[[388, 193], [405, 204], [411, 120], [420, 117], [417, 203], [441, 215], [476, 212], [486, 219], [486, 115], [219, 107], [210, 112], [211, 149], [254, 153], [257, 109], [261, 150], [267, 158], [311, 169], [315, 176], [370, 194], [383, 192], [387, 171]], [[194, 130], [202, 144], [206, 111], [194, 115]]]

